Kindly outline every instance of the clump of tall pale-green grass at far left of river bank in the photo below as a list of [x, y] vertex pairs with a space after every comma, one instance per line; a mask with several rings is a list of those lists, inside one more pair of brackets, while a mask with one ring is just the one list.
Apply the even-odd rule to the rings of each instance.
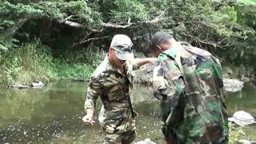
[[50, 48], [38, 40], [13, 48], [2, 55], [0, 82], [48, 81], [51, 60]]

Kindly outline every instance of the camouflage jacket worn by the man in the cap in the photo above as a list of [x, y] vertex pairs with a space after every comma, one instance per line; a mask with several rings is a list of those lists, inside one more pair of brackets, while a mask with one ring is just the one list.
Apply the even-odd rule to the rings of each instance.
[[94, 110], [99, 96], [106, 110], [106, 119], [103, 124], [105, 128], [106, 126], [117, 127], [121, 122], [136, 116], [130, 95], [130, 90], [132, 89], [131, 71], [138, 69], [139, 66], [136, 62], [126, 61], [125, 67], [126, 74], [118, 72], [106, 57], [97, 69], [94, 70], [90, 78], [85, 110]]

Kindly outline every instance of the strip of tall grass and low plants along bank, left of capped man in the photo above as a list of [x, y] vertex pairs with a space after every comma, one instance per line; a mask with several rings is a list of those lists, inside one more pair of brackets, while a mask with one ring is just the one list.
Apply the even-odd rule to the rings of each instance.
[[[5, 52], [0, 60], [2, 69], [0, 83], [47, 82], [53, 79], [86, 80], [90, 78], [94, 70], [93, 66], [64, 59], [54, 59], [51, 56], [50, 47], [42, 45], [39, 40], [12, 48]], [[98, 61], [98, 59], [94, 59], [94, 62]]]

